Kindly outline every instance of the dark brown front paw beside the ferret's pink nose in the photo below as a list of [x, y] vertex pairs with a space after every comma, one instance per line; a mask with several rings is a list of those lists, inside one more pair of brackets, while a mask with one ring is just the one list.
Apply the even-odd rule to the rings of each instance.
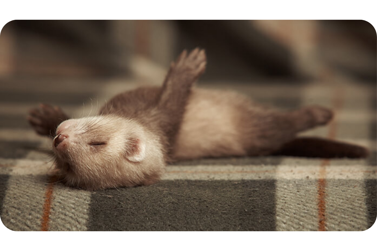
[[58, 106], [40, 104], [29, 111], [27, 119], [38, 134], [54, 137], [58, 125], [69, 117]]

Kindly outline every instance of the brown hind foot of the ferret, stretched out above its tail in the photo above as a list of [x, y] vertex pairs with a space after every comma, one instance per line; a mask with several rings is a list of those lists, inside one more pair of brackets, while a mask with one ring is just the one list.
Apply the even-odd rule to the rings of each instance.
[[331, 110], [317, 105], [303, 107], [290, 115], [297, 132], [326, 125], [333, 118]]

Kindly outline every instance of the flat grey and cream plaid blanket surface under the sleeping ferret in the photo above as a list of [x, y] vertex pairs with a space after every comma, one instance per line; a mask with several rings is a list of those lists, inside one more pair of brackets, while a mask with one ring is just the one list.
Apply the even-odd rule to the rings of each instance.
[[[38, 102], [75, 116], [95, 110], [130, 80], [2, 79], [0, 215], [14, 231], [363, 231], [377, 217], [375, 87], [342, 83], [213, 84], [293, 109], [333, 108], [328, 126], [304, 135], [346, 140], [371, 150], [365, 160], [295, 157], [184, 161], [152, 186], [97, 192], [49, 178], [51, 140], [26, 122]], [[75, 91], [72, 91], [75, 90]], [[83, 105], [83, 100], [86, 100]]]

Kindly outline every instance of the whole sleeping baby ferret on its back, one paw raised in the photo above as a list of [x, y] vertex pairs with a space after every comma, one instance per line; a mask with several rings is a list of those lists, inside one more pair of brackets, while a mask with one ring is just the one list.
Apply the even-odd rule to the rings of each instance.
[[333, 112], [321, 106], [279, 111], [238, 93], [194, 87], [206, 67], [204, 50], [184, 50], [161, 87], [113, 97], [98, 116], [70, 119], [41, 104], [28, 121], [53, 137], [57, 175], [87, 190], [156, 183], [167, 163], [207, 157], [292, 155], [363, 158], [356, 145], [296, 137], [325, 125]]

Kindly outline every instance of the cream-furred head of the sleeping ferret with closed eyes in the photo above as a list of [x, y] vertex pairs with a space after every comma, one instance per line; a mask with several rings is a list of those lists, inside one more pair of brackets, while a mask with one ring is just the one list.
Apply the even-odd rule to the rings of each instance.
[[87, 190], [147, 185], [159, 180], [164, 156], [158, 138], [118, 116], [62, 122], [53, 141], [59, 176]]

